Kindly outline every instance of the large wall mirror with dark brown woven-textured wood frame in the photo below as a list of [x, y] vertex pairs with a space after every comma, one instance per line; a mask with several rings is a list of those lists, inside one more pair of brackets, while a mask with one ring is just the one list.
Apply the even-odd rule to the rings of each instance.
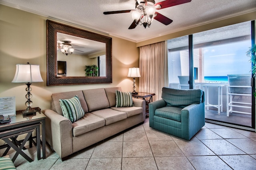
[[[111, 37], [46, 20], [46, 42], [47, 86], [112, 83]], [[72, 53], [62, 52], [66, 44]], [[66, 61], [65, 74], [58, 74], [58, 61]], [[86, 76], [92, 65], [98, 72]]]

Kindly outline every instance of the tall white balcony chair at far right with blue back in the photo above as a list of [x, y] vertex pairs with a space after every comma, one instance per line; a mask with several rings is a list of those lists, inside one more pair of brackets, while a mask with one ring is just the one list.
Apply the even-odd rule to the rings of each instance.
[[[235, 96], [238, 98], [235, 100]], [[242, 113], [251, 115], [251, 112], [235, 111], [233, 107], [252, 108], [251, 102], [241, 101], [243, 96], [252, 96], [251, 75], [250, 74], [230, 74], [228, 75], [227, 86], [227, 116], [229, 113]]]

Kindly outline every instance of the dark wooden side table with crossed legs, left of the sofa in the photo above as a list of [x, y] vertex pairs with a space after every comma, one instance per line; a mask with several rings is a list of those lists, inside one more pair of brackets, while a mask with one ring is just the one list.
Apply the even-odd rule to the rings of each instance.
[[[37, 159], [41, 159], [41, 151], [40, 151], [40, 125], [42, 125], [42, 156], [43, 159], [46, 158], [46, 140], [45, 140], [45, 119], [46, 116], [40, 112], [40, 108], [34, 108], [37, 110], [35, 115], [30, 115], [23, 117], [22, 110], [16, 111], [16, 115], [10, 116], [11, 121], [8, 123], [0, 123], [0, 138], [4, 140], [9, 146], [6, 149], [6, 152], [2, 156], [5, 156], [12, 147], [14, 150], [16, 150], [15, 156], [12, 158], [12, 161], [14, 162], [18, 154], [21, 154], [26, 160], [29, 162], [32, 162], [33, 160], [29, 158], [24, 152], [22, 152], [22, 149], [24, 149], [24, 145], [28, 139], [30, 139], [30, 147], [32, 147], [31, 141], [32, 137], [32, 131], [36, 129], [36, 147], [37, 147]], [[17, 141], [18, 135], [26, 134], [26, 138], [20, 144], [19, 141]], [[12, 140], [12, 141], [11, 141]], [[34, 143], [34, 141], [33, 141]], [[19, 147], [18, 147], [19, 146]], [[1, 147], [4, 148], [4, 147]]]

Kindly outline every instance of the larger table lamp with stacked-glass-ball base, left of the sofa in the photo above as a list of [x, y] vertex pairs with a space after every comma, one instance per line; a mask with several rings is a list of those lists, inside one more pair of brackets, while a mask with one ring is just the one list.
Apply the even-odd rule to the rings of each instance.
[[30, 87], [32, 82], [43, 82], [43, 79], [40, 74], [39, 65], [32, 64], [16, 64], [16, 73], [12, 80], [13, 83], [26, 83], [27, 88], [26, 91], [26, 101], [25, 105], [27, 109], [22, 111], [22, 115], [32, 115], [36, 113], [36, 110], [32, 109], [31, 106], [33, 102], [30, 100], [32, 98], [32, 94], [30, 93], [32, 88]]

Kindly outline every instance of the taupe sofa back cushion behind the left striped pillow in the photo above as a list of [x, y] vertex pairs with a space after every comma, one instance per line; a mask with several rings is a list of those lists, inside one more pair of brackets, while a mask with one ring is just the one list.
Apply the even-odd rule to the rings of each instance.
[[59, 100], [60, 99], [70, 99], [76, 95], [78, 96], [78, 98], [80, 100], [80, 103], [81, 103], [82, 108], [84, 109], [84, 112], [87, 113], [88, 107], [84, 100], [84, 94], [83, 94], [82, 90], [52, 94], [51, 109], [53, 111], [57, 112], [58, 114], [63, 115]]

